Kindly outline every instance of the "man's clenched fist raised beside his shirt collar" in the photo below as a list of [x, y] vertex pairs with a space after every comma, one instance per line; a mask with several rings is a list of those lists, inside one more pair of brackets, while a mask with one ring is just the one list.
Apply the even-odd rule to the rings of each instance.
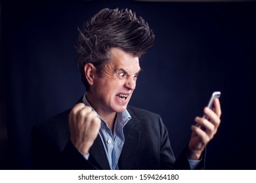
[[88, 154], [100, 130], [100, 118], [91, 107], [78, 103], [69, 116], [71, 142], [83, 154]]

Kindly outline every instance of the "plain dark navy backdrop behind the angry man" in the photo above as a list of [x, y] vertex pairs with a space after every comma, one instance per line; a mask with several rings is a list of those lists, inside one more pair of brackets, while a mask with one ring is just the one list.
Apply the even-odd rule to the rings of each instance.
[[77, 27], [104, 7], [131, 8], [154, 30], [130, 104], [161, 115], [175, 154], [219, 90], [222, 124], [206, 169], [255, 169], [255, 3], [139, 1], [1, 1], [0, 168], [31, 169], [32, 126], [85, 92]]

